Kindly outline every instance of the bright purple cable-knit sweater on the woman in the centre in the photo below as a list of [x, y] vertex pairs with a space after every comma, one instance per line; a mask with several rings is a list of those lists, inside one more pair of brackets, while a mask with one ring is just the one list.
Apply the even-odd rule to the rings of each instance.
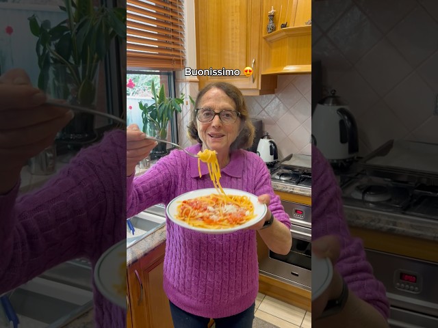
[[[188, 148], [196, 154], [201, 145]], [[211, 188], [207, 165], [181, 150], [160, 159], [146, 174], [127, 180], [127, 217], [154, 204], [168, 204], [182, 193]], [[276, 219], [289, 227], [270, 174], [260, 157], [246, 150], [231, 153], [230, 163], [221, 170], [224, 188], [270, 194], [269, 205]], [[255, 230], [231, 234], [203, 234], [167, 223], [164, 258], [164, 290], [182, 310], [207, 318], [240, 313], [252, 305], [258, 290], [257, 242]]]

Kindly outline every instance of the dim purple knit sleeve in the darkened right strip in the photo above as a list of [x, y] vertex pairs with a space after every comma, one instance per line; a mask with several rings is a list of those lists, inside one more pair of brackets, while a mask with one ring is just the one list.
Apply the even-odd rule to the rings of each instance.
[[389, 303], [385, 287], [374, 277], [361, 239], [350, 235], [344, 219], [341, 189], [331, 166], [315, 147], [312, 148], [312, 204], [312, 239], [328, 234], [340, 237], [341, 254], [336, 269], [355, 295], [387, 318]]

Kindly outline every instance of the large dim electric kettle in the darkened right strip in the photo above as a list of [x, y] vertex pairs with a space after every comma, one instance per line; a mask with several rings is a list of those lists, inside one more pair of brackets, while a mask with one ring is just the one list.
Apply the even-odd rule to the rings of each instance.
[[355, 118], [347, 103], [331, 90], [320, 100], [312, 115], [312, 142], [331, 161], [351, 162], [359, 152]]

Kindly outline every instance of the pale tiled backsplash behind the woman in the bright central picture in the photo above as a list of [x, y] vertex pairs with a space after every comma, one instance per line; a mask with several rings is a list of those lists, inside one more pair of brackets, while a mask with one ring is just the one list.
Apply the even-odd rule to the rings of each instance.
[[[196, 98], [196, 81], [177, 81], [177, 85], [181, 92]], [[268, 132], [279, 147], [280, 159], [292, 153], [311, 154], [310, 74], [281, 75], [275, 94], [246, 96], [245, 99], [251, 118], [263, 120], [263, 131]], [[189, 111], [190, 105], [185, 105], [179, 115], [179, 142], [183, 146], [190, 146], [186, 135]]]

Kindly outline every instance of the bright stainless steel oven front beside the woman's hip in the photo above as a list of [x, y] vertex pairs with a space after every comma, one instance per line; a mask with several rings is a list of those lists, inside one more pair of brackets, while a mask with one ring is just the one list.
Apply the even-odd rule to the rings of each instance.
[[288, 254], [268, 250], [259, 271], [282, 282], [311, 290], [311, 206], [282, 201], [292, 223], [292, 247]]

